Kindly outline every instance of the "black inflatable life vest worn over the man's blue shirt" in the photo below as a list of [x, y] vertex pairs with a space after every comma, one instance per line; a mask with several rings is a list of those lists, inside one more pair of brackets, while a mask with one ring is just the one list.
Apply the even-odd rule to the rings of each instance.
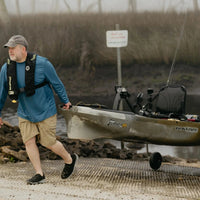
[[40, 88], [47, 84], [47, 82], [35, 85], [35, 63], [36, 54], [28, 53], [25, 63], [25, 87], [18, 88], [17, 84], [17, 69], [16, 62], [8, 59], [7, 61], [7, 83], [8, 83], [8, 95], [13, 103], [18, 99], [20, 92], [25, 92], [26, 96], [32, 96], [35, 94], [35, 89]]

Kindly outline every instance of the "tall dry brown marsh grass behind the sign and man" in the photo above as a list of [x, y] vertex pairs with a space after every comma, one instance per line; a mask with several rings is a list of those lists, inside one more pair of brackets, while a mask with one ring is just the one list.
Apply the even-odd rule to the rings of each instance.
[[[200, 64], [199, 18], [199, 12], [187, 13], [176, 63]], [[22, 34], [30, 51], [48, 57], [56, 67], [111, 66], [116, 50], [106, 47], [106, 31], [117, 23], [129, 33], [128, 46], [121, 49], [124, 66], [172, 63], [184, 23], [184, 14], [173, 12], [13, 16], [9, 25], [0, 24], [0, 44]], [[7, 52], [2, 49], [0, 55], [2, 65]]]

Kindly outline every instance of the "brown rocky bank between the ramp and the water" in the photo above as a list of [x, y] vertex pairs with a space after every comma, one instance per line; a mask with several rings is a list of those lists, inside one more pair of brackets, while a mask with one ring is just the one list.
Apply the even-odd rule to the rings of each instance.
[[[65, 148], [70, 152], [75, 152], [79, 157], [87, 158], [114, 158], [122, 160], [144, 161], [149, 159], [146, 153], [137, 153], [144, 144], [130, 143], [124, 149], [116, 148], [113, 144], [105, 141], [82, 141], [72, 140], [66, 137], [57, 136]], [[39, 151], [42, 160], [59, 160], [59, 156], [52, 151], [41, 146], [39, 143]], [[4, 121], [4, 125], [0, 129], [0, 163], [28, 161], [25, 146], [22, 142], [20, 130], [18, 126], [12, 126]], [[198, 160], [184, 160], [171, 156], [163, 156], [163, 162], [181, 164], [188, 166], [200, 167]]]

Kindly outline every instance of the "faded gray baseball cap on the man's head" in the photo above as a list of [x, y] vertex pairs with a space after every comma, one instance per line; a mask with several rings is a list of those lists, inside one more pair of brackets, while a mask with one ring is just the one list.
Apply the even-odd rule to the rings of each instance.
[[24, 36], [22, 35], [13, 35], [6, 44], [4, 44], [4, 48], [7, 47], [16, 47], [18, 44], [21, 44], [25, 46], [26, 48], [28, 47], [28, 42], [25, 39]]

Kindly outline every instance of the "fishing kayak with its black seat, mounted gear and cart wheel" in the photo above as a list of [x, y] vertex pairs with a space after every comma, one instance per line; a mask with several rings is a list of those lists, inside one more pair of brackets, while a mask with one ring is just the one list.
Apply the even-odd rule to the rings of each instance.
[[[200, 117], [185, 114], [184, 86], [167, 85], [154, 96], [149, 88], [147, 94], [146, 104], [142, 105], [143, 94], [139, 93], [136, 104], [132, 106], [127, 90], [116, 87], [113, 109], [79, 104], [65, 110], [60, 106], [68, 137], [174, 146], [200, 145]], [[131, 112], [120, 110], [122, 100], [126, 101]], [[149, 164], [153, 170], [158, 170], [162, 164], [161, 154], [152, 153]]]

